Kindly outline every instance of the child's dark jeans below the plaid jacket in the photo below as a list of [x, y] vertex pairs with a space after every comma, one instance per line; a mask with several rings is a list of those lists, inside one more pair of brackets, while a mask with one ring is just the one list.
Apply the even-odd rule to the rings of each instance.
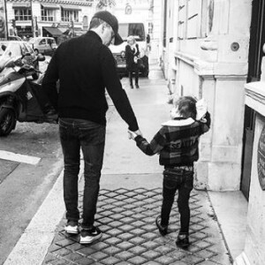
[[181, 234], [188, 234], [190, 223], [189, 199], [193, 190], [193, 168], [165, 169], [163, 171], [163, 205], [161, 210], [161, 224], [167, 226], [170, 220], [170, 211], [178, 190], [178, 211], [180, 214]]

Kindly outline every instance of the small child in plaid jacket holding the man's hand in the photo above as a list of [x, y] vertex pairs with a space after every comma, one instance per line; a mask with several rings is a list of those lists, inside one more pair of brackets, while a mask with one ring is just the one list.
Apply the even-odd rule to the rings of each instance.
[[160, 153], [159, 163], [163, 170], [163, 204], [161, 216], [155, 219], [156, 226], [164, 236], [168, 231], [170, 210], [178, 190], [180, 231], [177, 246], [189, 246], [190, 208], [189, 198], [193, 190], [193, 162], [199, 159], [199, 138], [208, 132], [210, 115], [204, 100], [196, 102], [192, 96], [179, 98], [171, 110], [172, 120], [163, 124], [150, 143], [140, 135], [129, 131], [146, 155]]

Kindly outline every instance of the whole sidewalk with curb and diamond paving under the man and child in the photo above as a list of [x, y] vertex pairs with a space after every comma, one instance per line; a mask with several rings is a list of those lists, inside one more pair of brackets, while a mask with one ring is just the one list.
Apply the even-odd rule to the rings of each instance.
[[[123, 79], [140, 130], [150, 140], [163, 121], [169, 119], [168, 89], [158, 66], [152, 65], [149, 79], [140, 79], [140, 89], [130, 89]], [[43, 202], [4, 265], [229, 265], [231, 255], [223, 240], [216, 212], [208, 193], [193, 190], [190, 241], [186, 250], [175, 245], [179, 229], [178, 208], [170, 216], [169, 234], [160, 236], [155, 217], [162, 201], [162, 171], [158, 156], [147, 156], [127, 139], [127, 126], [110, 106], [105, 157], [96, 223], [102, 239], [88, 246], [79, 236], [64, 232], [62, 174]], [[83, 178], [79, 182], [79, 209]], [[55, 231], [55, 232], [54, 232]]]

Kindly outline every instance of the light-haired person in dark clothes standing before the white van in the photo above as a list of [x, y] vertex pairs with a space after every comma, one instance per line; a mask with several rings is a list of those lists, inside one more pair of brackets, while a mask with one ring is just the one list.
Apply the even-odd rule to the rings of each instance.
[[125, 47], [126, 67], [129, 72], [130, 87], [133, 89], [133, 72], [135, 73], [135, 87], [139, 88], [139, 65], [138, 60], [140, 56], [139, 45], [136, 43], [133, 36], [127, 38], [127, 45]]

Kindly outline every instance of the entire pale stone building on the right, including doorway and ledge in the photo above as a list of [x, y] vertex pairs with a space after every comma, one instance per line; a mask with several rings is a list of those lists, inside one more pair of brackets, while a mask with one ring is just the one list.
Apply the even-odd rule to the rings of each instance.
[[265, 264], [265, 1], [164, 0], [162, 13], [170, 91], [204, 97], [212, 117], [195, 186], [242, 191], [246, 242], [235, 264]]

